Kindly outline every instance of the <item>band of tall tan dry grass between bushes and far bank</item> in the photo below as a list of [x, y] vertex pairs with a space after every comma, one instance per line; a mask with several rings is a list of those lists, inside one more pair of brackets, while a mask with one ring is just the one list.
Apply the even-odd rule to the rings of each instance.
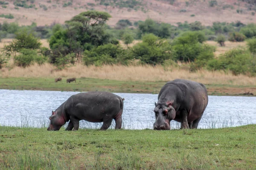
[[184, 69], [169, 68], [150, 65], [104, 65], [102, 67], [85, 66], [78, 64], [62, 71], [51, 71], [54, 67], [50, 64], [32, 65], [27, 68], [14, 67], [11, 70], [3, 68], [0, 77], [88, 77], [98, 79], [113, 79], [122, 81], [169, 81], [172, 79], [190, 79], [204, 84], [226, 84], [226, 85], [256, 85], [256, 77], [243, 75], [233, 76], [221, 71], [200, 70], [191, 73]]

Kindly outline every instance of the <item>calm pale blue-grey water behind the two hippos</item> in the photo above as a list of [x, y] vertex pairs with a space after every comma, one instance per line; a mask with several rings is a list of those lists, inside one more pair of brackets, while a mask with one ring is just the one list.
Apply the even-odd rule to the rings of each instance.
[[[46, 127], [49, 116], [71, 95], [79, 92], [0, 90], [0, 125]], [[153, 128], [157, 94], [115, 93], [124, 101], [123, 128]], [[114, 121], [112, 126], [114, 126]], [[209, 96], [198, 128], [256, 124], [256, 97]], [[80, 121], [80, 128], [100, 128], [102, 123]], [[172, 128], [180, 123], [172, 121]], [[112, 127], [113, 128], [113, 127]]]

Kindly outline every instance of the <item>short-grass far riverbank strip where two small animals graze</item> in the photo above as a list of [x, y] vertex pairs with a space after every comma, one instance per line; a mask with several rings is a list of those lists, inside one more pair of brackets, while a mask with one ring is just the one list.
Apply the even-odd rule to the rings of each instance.
[[[54, 82], [53, 78], [1, 78], [0, 89], [10, 90], [49, 90], [49, 91], [110, 91], [115, 93], [158, 94], [167, 81], [118, 81], [109, 79], [79, 78], [75, 82]], [[253, 85], [206, 84], [209, 95], [248, 96], [256, 95]], [[250, 95], [251, 96], [251, 95]]]

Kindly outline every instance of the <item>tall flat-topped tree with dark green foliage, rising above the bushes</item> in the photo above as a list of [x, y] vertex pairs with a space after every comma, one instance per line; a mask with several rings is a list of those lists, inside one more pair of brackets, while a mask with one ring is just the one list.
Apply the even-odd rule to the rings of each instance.
[[111, 42], [111, 35], [105, 32], [105, 23], [110, 17], [107, 12], [82, 12], [65, 22], [67, 29], [55, 31], [49, 40], [49, 46], [52, 51], [56, 51], [55, 54], [66, 56], [67, 53], [74, 53], [78, 61], [84, 50]]

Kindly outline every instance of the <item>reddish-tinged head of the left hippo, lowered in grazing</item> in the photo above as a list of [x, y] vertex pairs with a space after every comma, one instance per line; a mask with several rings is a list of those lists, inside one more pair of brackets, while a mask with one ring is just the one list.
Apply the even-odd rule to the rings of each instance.
[[65, 119], [61, 114], [52, 111], [52, 116], [49, 117], [50, 123], [47, 130], [60, 130], [61, 126], [65, 125]]

